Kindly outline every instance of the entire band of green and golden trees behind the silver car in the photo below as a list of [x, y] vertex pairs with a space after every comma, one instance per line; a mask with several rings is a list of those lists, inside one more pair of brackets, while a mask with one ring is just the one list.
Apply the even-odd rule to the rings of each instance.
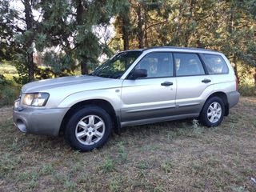
[[[256, 74], [255, 0], [18, 0], [25, 14], [10, 2], [0, 2], [0, 62], [15, 64], [20, 83], [74, 74], [78, 67], [86, 74], [102, 54], [149, 46], [219, 50], [239, 81]], [[101, 29], [111, 18], [110, 39]]]

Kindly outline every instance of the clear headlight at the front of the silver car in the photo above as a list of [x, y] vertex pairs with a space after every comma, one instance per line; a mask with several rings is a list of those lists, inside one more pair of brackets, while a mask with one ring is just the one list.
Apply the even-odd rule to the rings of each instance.
[[49, 98], [47, 93], [24, 94], [22, 104], [26, 106], [45, 106]]

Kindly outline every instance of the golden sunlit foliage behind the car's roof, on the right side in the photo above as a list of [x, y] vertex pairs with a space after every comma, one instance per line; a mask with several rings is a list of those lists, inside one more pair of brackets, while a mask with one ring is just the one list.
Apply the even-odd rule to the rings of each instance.
[[244, 73], [248, 68], [256, 67], [254, 0], [142, 0], [128, 3], [126, 9], [130, 14], [126, 14], [129, 17], [126, 21], [129, 22], [123, 22], [124, 18], [119, 14], [114, 23], [113, 49], [193, 46], [218, 50], [232, 62], [238, 80], [249, 75]]

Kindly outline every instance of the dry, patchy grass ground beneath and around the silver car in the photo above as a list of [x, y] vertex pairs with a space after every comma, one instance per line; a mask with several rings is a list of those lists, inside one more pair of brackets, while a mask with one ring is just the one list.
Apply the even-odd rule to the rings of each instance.
[[221, 126], [134, 126], [90, 153], [63, 137], [26, 135], [0, 109], [0, 191], [256, 191], [256, 98]]

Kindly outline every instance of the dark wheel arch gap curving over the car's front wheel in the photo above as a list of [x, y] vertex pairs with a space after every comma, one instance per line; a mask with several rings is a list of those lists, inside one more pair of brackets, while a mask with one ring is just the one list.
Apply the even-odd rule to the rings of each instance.
[[69, 121], [71, 115], [74, 114], [75, 111], [78, 111], [85, 106], [92, 106], [92, 105], [101, 107], [103, 110], [106, 110], [108, 114], [110, 114], [110, 118], [114, 123], [114, 132], [118, 134], [121, 127], [119, 118], [115, 113], [114, 107], [110, 104], [110, 102], [104, 99], [89, 99], [89, 100], [84, 100], [82, 102], [75, 103], [73, 106], [70, 107], [70, 110], [66, 112], [66, 114], [64, 115], [64, 118], [62, 118], [62, 124], [59, 132], [62, 132], [65, 130], [66, 123]]

